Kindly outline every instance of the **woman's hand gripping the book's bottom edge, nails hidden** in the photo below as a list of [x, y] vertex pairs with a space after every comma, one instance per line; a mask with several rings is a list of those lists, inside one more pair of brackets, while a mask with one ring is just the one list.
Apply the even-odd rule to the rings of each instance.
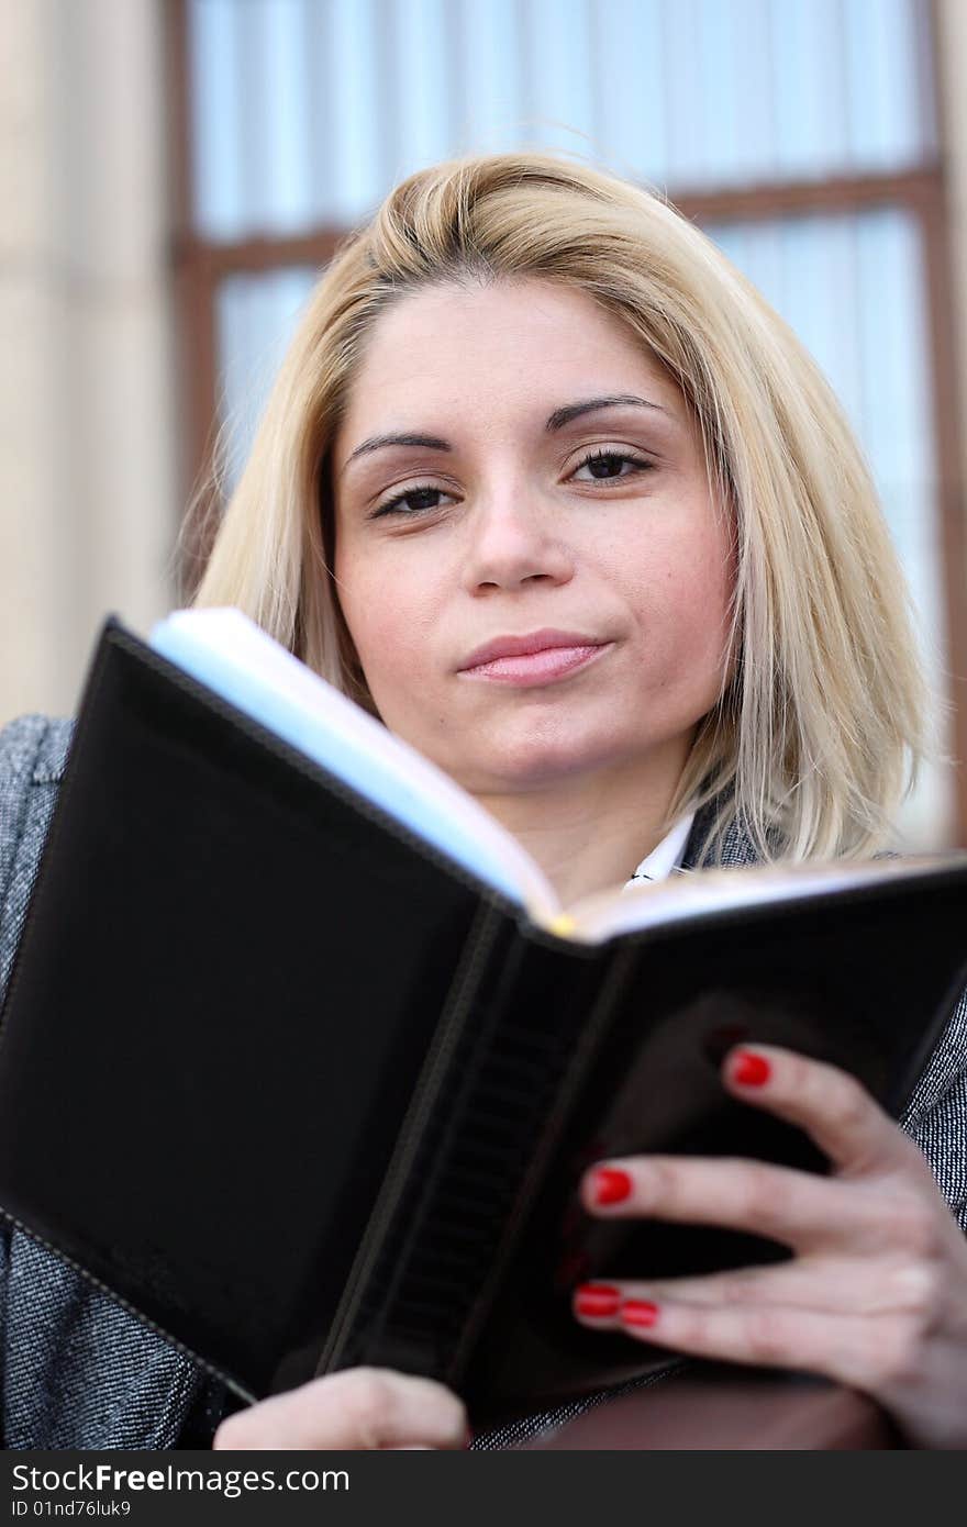
[[388, 1368], [344, 1368], [222, 1422], [212, 1448], [466, 1448], [463, 1403], [441, 1383]]

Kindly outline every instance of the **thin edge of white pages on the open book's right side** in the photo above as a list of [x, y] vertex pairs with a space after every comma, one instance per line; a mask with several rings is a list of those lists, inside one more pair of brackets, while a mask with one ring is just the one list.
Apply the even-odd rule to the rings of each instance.
[[698, 875], [674, 875], [652, 886], [632, 886], [620, 896], [605, 890], [582, 898], [565, 913], [571, 919], [568, 938], [602, 944], [619, 933], [684, 922], [727, 907], [761, 907], [952, 867], [961, 869], [967, 876], [967, 854], [912, 854], [903, 858], [837, 860], [828, 864], [747, 864], [701, 870]]

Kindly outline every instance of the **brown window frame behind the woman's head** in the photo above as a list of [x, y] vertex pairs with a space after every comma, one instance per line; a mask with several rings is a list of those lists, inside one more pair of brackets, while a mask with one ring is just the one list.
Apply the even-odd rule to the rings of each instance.
[[[191, 101], [186, 0], [167, 6], [167, 64], [173, 136], [173, 240], [177, 368], [180, 380], [179, 502], [186, 504], [211, 469], [217, 429], [215, 298], [228, 275], [322, 267], [331, 260], [342, 228], [315, 228], [284, 238], [243, 238], [217, 243], [194, 231], [191, 176]], [[935, 58], [936, 17], [926, 18]], [[938, 70], [933, 69], [933, 78]], [[941, 130], [943, 145], [943, 130]], [[955, 841], [967, 847], [967, 516], [959, 440], [958, 357], [943, 150], [917, 168], [891, 174], [840, 176], [822, 182], [773, 182], [692, 194], [669, 200], [700, 228], [712, 223], [767, 220], [784, 214], [855, 212], [874, 206], [901, 208], [915, 220], [924, 249], [927, 350], [933, 392], [933, 441], [944, 586], [950, 747], [955, 773]], [[202, 565], [205, 547], [185, 548]]]

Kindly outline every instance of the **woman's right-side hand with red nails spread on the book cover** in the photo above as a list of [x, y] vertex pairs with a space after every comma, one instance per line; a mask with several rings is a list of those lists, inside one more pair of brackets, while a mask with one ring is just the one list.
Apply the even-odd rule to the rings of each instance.
[[917, 1145], [842, 1070], [732, 1051], [733, 1096], [800, 1125], [830, 1177], [750, 1161], [632, 1156], [582, 1179], [588, 1212], [720, 1225], [796, 1254], [700, 1278], [585, 1284], [574, 1313], [694, 1356], [822, 1373], [921, 1448], [967, 1446], [967, 1238]]

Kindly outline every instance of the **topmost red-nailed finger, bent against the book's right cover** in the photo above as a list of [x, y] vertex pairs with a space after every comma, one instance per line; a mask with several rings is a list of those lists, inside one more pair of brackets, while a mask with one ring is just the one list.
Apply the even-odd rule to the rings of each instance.
[[742, 1102], [797, 1124], [845, 1174], [892, 1170], [912, 1142], [848, 1072], [771, 1044], [742, 1046], [723, 1063], [726, 1089]]

